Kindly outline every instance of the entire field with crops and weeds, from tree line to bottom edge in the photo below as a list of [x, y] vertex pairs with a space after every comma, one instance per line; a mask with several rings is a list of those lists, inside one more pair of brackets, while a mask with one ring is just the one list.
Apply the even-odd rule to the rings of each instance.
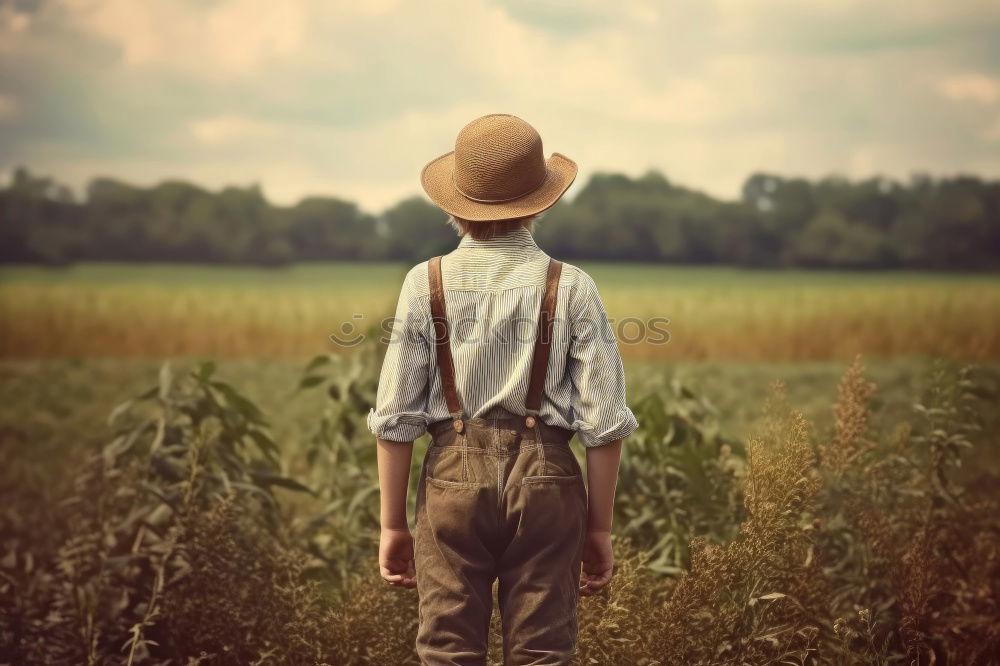
[[[640, 429], [575, 663], [996, 663], [1000, 279], [585, 268], [671, 339], [621, 345]], [[416, 663], [382, 348], [328, 339], [404, 272], [0, 269], [0, 663]]]

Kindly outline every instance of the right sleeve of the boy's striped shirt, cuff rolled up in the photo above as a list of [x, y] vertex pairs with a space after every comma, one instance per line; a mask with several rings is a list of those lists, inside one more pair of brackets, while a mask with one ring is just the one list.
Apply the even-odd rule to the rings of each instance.
[[570, 301], [567, 369], [573, 383], [573, 429], [584, 446], [628, 437], [639, 427], [625, 400], [618, 341], [593, 279], [580, 273]]

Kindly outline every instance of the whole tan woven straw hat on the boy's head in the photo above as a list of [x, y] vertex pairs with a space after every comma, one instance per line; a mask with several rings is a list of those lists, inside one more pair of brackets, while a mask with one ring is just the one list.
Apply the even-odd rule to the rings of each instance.
[[491, 113], [462, 128], [455, 150], [420, 173], [428, 196], [446, 213], [473, 222], [528, 217], [551, 207], [576, 178], [576, 162], [545, 159], [535, 128]]

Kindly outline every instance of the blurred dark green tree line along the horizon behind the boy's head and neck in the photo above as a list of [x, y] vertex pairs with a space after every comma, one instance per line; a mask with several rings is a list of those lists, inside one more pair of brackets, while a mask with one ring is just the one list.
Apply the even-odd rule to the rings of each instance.
[[[0, 189], [0, 261], [415, 263], [454, 247], [445, 219], [420, 196], [373, 215], [338, 198], [279, 206], [258, 186], [210, 191], [181, 181], [97, 178], [78, 199], [19, 168]], [[656, 171], [599, 173], [550, 209], [536, 236], [566, 260], [991, 270], [1000, 268], [1000, 181], [759, 173], [726, 201]]]

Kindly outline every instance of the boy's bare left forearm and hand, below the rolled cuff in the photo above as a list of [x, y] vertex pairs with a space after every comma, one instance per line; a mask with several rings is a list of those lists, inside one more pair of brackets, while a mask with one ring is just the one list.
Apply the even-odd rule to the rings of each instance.
[[379, 438], [377, 445], [382, 524], [379, 571], [388, 583], [416, 587], [413, 536], [406, 520], [406, 491], [410, 485], [413, 442], [392, 442]]

